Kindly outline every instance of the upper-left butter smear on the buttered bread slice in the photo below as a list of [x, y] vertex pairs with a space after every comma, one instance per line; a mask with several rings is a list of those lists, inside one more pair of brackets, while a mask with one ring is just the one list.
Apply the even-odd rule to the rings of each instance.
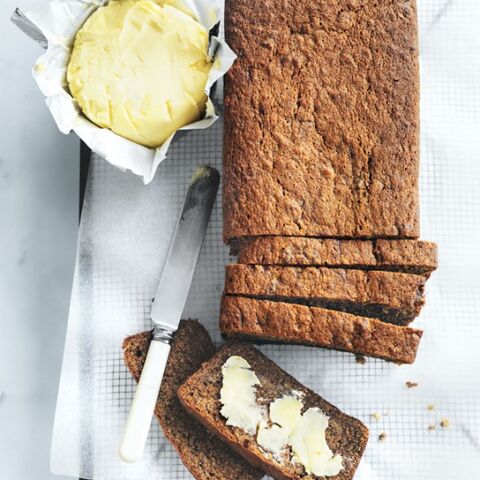
[[264, 417], [264, 409], [257, 403], [255, 386], [260, 381], [242, 357], [230, 357], [222, 367], [223, 384], [220, 390], [220, 413], [227, 425], [239, 427], [251, 435]]

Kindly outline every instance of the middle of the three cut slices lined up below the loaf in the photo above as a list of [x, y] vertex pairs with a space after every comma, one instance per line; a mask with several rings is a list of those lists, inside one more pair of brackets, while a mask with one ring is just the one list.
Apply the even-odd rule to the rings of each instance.
[[225, 293], [340, 310], [407, 325], [425, 303], [426, 277], [326, 267], [226, 266]]

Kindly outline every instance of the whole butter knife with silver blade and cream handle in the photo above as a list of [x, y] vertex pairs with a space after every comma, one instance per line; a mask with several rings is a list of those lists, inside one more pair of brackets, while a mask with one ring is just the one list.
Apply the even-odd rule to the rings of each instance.
[[170, 341], [187, 300], [219, 183], [218, 171], [204, 166], [195, 172], [188, 188], [150, 313], [153, 340], [120, 443], [119, 455], [125, 462], [139, 460], [145, 448]]

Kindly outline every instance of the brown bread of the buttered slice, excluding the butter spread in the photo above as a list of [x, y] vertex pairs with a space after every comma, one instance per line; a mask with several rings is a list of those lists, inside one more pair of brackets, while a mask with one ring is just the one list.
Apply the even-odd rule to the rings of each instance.
[[257, 444], [253, 435], [240, 428], [226, 425], [225, 419], [220, 414], [219, 399], [222, 387], [222, 366], [232, 355], [243, 357], [251, 365], [261, 383], [257, 398], [262, 399], [262, 402], [270, 403], [295, 390], [303, 394], [302, 402], [305, 409], [317, 407], [329, 417], [326, 430], [327, 444], [334, 454], [342, 455], [344, 469], [338, 475], [328, 479], [351, 479], [368, 441], [368, 429], [365, 425], [342, 413], [322, 397], [304, 387], [250, 345], [227, 344], [179, 388], [178, 397], [188, 412], [229, 443], [250, 463], [262, 468], [275, 479], [319, 478], [307, 475], [300, 464], [276, 459]]

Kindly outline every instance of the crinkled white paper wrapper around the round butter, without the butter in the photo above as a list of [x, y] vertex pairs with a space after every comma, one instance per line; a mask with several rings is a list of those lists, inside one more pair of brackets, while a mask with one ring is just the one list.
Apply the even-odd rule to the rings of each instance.
[[[81, 113], [66, 85], [66, 71], [75, 35], [85, 20], [106, 3], [108, 0], [48, 0], [37, 2], [26, 11], [26, 18], [48, 41], [46, 52], [35, 63], [33, 76], [45, 95], [47, 107], [62, 133], [75, 131], [107, 162], [121, 170], [130, 170], [142, 177], [144, 183], [149, 183], [158, 165], [165, 159], [175, 133], [156, 149], [127, 140], [111, 130], [100, 128], [90, 122]], [[223, 0], [181, 0], [181, 3], [208, 31], [223, 19]], [[235, 59], [235, 54], [225, 41], [216, 35], [210, 38], [209, 54], [213, 66], [205, 86], [207, 95], [210, 94], [212, 85], [225, 74]], [[215, 107], [209, 97], [205, 117], [179, 130], [205, 129], [213, 125], [217, 119]]]

